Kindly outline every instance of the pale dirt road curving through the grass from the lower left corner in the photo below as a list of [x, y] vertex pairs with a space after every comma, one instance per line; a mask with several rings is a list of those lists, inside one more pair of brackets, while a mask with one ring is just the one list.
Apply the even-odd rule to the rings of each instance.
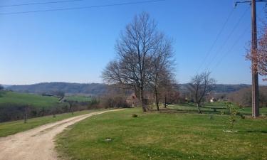
[[75, 122], [112, 111], [117, 110], [83, 114], [0, 138], [0, 160], [56, 160], [57, 154], [53, 143], [56, 134], [63, 132], [63, 129]]

